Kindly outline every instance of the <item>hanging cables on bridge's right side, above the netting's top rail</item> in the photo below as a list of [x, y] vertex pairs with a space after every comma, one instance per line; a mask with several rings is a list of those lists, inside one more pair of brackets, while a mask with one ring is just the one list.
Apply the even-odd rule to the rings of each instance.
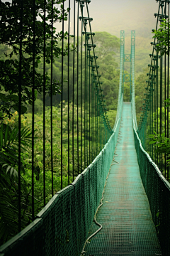
[[144, 149], [169, 181], [169, 1], [157, 2], [157, 25], [152, 31], [153, 50], [137, 133]]

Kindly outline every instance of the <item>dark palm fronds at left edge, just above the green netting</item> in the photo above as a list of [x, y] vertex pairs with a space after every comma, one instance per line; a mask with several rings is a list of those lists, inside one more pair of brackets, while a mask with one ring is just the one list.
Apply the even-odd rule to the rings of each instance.
[[[21, 140], [19, 138], [21, 135]], [[24, 158], [31, 145], [30, 128], [11, 128], [1, 124], [0, 129], [0, 241], [4, 242], [16, 233], [18, 227], [18, 193], [21, 193], [22, 226], [29, 222], [28, 201], [30, 200], [29, 184], [23, 178], [28, 168]], [[21, 144], [21, 160], [18, 161], [18, 145]], [[21, 188], [18, 187], [18, 166], [21, 166]], [[38, 169], [34, 170], [39, 172]], [[19, 192], [20, 190], [20, 192]]]

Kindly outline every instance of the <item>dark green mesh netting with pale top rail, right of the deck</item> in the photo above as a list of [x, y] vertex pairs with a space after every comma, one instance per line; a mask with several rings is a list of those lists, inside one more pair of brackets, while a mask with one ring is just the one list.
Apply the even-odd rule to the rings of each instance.
[[152, 219], [162, 247], [162, 255], [170, 252], [170, 186], [147, 152], [134, 130], [135, 148], [140, 166], [140, 175], [149, 200]]

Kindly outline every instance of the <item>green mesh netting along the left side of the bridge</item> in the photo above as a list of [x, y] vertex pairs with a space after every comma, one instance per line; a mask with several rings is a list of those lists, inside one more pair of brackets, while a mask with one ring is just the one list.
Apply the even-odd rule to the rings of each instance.
[[35, 221], [0, 247], [0, 255], [80, 255], [101, 200], [118, 139], [123, 97], [118, 102], [113, 134], [93, 163], [59, 191]]

